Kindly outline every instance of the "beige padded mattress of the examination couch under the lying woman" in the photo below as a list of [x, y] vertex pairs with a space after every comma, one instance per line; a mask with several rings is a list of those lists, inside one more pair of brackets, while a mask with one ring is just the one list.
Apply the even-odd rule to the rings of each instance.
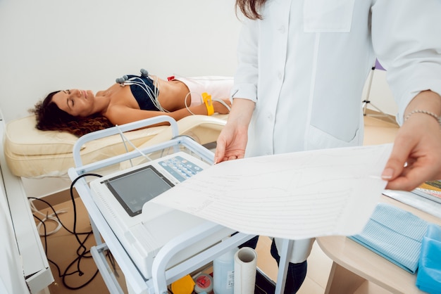
[[[178, 122], [180, 134], [192, 136], [198, 143], [216, 141], [225, 125], [227, 115], [192, 115]], [[146, 145], [167, 141], [171, 138], [168, 126], [149, 127], [131, 132], [125, 136], [141, 148]], [[66, 132], [39, 131], [35, 128], [35, 116], [30, 115], [6, 124], [4, 152], [6, 162], [18, 177], [41, 178], [63, 177], [74, 167], [73, 145], [77, 136]], [[128, 145], [131, 150], [130, 145]], [[120, 135], [90, 141], [82, 146], [82, 163], [87, 164], [125, 152]]]

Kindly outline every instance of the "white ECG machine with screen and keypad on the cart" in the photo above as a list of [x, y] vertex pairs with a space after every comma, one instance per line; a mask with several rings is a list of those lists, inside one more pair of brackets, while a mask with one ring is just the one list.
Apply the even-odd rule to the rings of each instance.
[[[149, 200], [206, 167], [209, 167], [206, 162], [180, 151], [91, 181], [94, 202], [144, 279], [151, 278], [151, 266], [163, 245], [183, 231], [206, 222]], [[232, 232], [225, 228], [218, 234], [225, 236]], [[173, 257], [169, 266], [209, 248], [215, 242], [216, 238], [212, 238], [182, 250]]]

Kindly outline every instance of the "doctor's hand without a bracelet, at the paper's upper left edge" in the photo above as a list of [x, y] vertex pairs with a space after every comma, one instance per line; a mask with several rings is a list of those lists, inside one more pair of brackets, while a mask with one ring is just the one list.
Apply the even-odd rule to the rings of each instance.
[[235, 98], [228, 122], [216, 141], [214, 163], [244, 158], [248, 142], [248, 125], [255, 103]]

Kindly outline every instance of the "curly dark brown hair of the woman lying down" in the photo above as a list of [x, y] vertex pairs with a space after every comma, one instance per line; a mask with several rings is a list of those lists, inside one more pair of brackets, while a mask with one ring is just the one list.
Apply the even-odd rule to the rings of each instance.
[[113, 124], [104, 116], [95, 114], [89, 117], [75, 117], [58, 108], [52, 101], [52, 97], [59, 91], [51, 92], [35, 104], [35, 108], [30, 110], [35, 114], [37, 124], [35, 127], [42, 131], [69, 132], [75, 136], [113, 127]]

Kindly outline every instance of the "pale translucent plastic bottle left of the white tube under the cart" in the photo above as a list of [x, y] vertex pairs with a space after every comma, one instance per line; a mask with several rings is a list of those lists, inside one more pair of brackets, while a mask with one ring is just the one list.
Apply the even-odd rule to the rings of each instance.
[[235, 291], [235, 253], [239, 248], [224, 253], [213, 260], [214, 294], [233, 294]]

